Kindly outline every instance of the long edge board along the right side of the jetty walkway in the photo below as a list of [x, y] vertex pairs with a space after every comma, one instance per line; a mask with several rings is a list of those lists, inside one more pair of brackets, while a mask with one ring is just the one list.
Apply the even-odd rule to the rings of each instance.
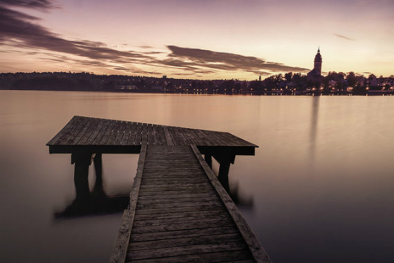
[[238, 208], [236, 208], [234, 202], [229, 197], [227, 192], [224, 190], [221, 183], [219, 183], [218, 179], [216, 179], [216, 175], [209, 168], [203, 156], [198, 151], [196, 145], [191, 145], [191, 149], [193, 149], [194, 153], [196, 154], [196, 157], [198, 158], [198, 161], [200, 161], [200, 165], [203, 167], [209, 180], [211, 181], [212, 185], [216, 189], [216, 192], [218, 192], [219, 197], [221, 197], [223, 203], [225, 204], [227, 210], [229, 211], [229, 214], [234, 219], [234, 222], [238, 227], [238, 230], [241, 232], [241, 235], [245, 239], [245, 242], [247, 243], [247, 245], [250, 248], [250, 251], [252, 252], [254, 260], [256, 260], [256, 262], [271, 262], [268, 253], [265, 251], [263, 246], [261, 246], [259, 239], [257, 239], [256, 235], [254, 235], [252, 229], [248, 226], [247, 222], [241, 215], [241, 212], [239, 212]]

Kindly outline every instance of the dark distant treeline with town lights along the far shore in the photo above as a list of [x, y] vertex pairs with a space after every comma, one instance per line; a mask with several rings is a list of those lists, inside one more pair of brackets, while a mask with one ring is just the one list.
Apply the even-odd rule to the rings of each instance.
[[188, 80], [129, 75], [44, 72], [0, 73], [0, 89], [39, 91], [122, 91], [223, 94], [393, 93], [394, 76], [330, 72], [326, 76], [301, 73], [271, 75], [264, 80]]

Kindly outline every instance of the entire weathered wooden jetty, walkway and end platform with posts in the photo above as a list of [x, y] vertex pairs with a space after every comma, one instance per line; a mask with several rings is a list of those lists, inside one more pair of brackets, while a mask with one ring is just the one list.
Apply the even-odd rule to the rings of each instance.
[[82, 116], [47, 145], [71, 154], [76, 200], [88, 196], [88, 166], [101, 165], [101, 154], [140, 154], [110, 262], [271, 262], [225, 191], [235, 156], [256, 145], [227, 132]]

